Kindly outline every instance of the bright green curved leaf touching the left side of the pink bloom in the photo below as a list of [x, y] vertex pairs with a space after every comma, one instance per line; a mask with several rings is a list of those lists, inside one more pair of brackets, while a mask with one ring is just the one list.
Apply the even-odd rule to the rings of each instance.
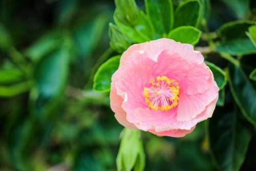
[[105, 61], [94, 75], [93, 89], [100, 92], [109, 92], [111, 77], [119, 67], [120, 55]]

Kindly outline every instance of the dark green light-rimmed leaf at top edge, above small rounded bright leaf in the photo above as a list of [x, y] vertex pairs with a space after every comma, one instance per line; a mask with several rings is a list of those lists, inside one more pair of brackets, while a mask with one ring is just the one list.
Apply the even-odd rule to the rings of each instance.
[[182, 1], [175, 10], [174, 28], [179, 26], [198, 27], [203, 9], [199, 0]]

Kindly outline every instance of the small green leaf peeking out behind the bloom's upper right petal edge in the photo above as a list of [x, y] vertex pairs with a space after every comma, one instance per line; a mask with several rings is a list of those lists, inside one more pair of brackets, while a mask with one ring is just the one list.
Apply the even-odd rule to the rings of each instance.
[[226, 73], [221, 68], [214, 65], [214, 63], [211, 63], [208, 61], [205, 61], [205, 63], [210, 68], [212, 73], [214, 74], [214, 79], [215, 79], [218, 87], [220, 88], [220, 90], [223, 89], [227, 83]]

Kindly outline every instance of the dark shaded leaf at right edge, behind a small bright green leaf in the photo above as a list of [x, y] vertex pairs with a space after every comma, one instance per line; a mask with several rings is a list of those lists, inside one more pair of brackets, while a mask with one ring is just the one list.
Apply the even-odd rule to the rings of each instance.
[[217, 51], [230, 55], [248, 55], [256, 53], [256, 48], [246, 36], [246, 31], [254, 22], [238, 20], [229, 22], [219, 29], [221, 42], [216, 47]]

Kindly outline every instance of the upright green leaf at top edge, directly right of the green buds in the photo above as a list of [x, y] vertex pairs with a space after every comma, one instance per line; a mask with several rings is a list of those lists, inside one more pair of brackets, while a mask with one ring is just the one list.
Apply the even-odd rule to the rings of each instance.
[[146, 13], [157, 33], [168, 33], [174, 24], [172, 0], [145, 0]]

